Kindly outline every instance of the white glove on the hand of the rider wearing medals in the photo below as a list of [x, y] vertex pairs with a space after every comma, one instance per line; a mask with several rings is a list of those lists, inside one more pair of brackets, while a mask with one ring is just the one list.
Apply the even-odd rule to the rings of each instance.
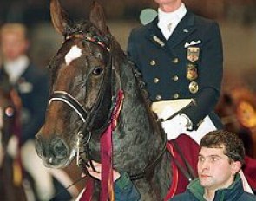
[[181, 133], [187, 131], [187, 126], [191, 124], [189, 118], [185, 114], [178, 114], [171, 120], [166, 120], [161, 123], [165, 133], [167, 133], [167, 139], [176, 139]]

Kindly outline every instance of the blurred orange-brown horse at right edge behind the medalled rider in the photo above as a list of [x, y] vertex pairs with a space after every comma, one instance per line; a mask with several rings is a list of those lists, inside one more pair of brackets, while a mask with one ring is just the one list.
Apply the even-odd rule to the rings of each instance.
[[246, 154], [256, 159], [256, 94], [246, 87], [225, 90], [216, 107], [225, 129], [237, 133]]

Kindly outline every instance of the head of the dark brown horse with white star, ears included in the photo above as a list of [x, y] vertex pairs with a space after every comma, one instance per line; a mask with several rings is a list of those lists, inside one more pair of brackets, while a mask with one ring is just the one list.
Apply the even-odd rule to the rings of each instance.
[[69, 19], [58, 0], [51, 1], [50, 11], [64, 41], [49, 63], [49, 108], [36, 137], [36, 151], [45, 165], [62, 167], [74, 158], [77, 140], [90, 140], [92, 132], [99, 139], [109, 122], [116, 89], [113, 49], [118, 44], [98, 3], [93, 4], [89, 21], [80, 23]]

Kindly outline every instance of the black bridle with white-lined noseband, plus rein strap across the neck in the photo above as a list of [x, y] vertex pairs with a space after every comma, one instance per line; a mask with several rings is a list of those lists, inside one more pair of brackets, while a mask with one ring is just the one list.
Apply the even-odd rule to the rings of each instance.
[[[92, 109], [90, 111], [87, 111], [84, 107], [82, 107], [82, 104], [79, 103], [78, 100], [76, 100], [71, 94], [65, 92], [65, 91], [54, 91], [53, 94], [51, 94], [49, 96], [49, 105], [53, 102], [53, 101], [62, 101], [63, 103], [69, 105], [69, 107], [71, 107], [75, 113], [77, 113], [77, 115], [80, 117], [80, 119], [82, 120], [83, 124], [82, 127], [80, 128], [79, 132], [77, 133], [76, 136], [76, 163], [77, 165], [81, 166], [84, 162], [84, 159], [82, 159], [81, 157], [81, 152], [80, 148], [81, 146], [86, 146], [86, 150], [85, 151], [87, 153], [87, 155], [89, 156], [89, 140], [91, 139], [91, 128], [92, 128], [92, 124], [95, 120], [95, 113], [97, 113], [98, 109], [102, 106], [102, 100], [104, 97], [104, 93], [106, 92], [106, 90], [108, 90], [109, 88], [107, 88], [107, 85], [105, 83], [108, 82], [108, 79], [110, 77], [110, 91], [111, 91], [111, 104], [109, 107], [109, 113], [108, 113], [108, 118], [105, 121], [105, 123], [103, 124], [103, 126], [98, 129], [97, 131], [102, 131], [104, 130], [104, 128], [106, 128], [108, 126], [108, 124], [111, 121], [111, 114], [115, 108], [115, 100], [116, 100], [116, 93], [115, 93], [115, 65], [113, 63], [113, 58], [112, 58], [112, 54], [111, 54], [111, 49], [108, 48], [107, 45], [105, 45], [104, 42], [102, 42], [100, 37], [92, 37], [90, 35], [72, 35], [72, 36], [67, 36], [65, 38], [65, 40], [69, 40], [71, 38], [82, 38], [82, 40], [88, 41], [88, 42], [92, 42], [95, 43], [99, 46], [102, 47], [102, 49], [105, 49], [108, 54], [109, 54], [109, 60], [108, 60], [108, 70], [107, 73], [104, 74], [103, 77], [103, 81], [102, 81], [102, 88], [99, 92], [99, 95], [97, 96], [97, 99], [95, 100], [95, 105], [92, 107]], [[86, 131], [89, 133], [88, 134], [88, 138], [84, 140], [84, 129], [86, 129]], [[158, 164], [158, 162], [161, 160], [161, 157], [163, 155], [164, 152], [166, 152], [166, 144], [167, 144], [167, 137], [165, 133], [162, 133], [162, 138], [164, 139], [163, 145], [161, 146], [161, 151], [158, 154], [158, 156], [156, 157], [156, 159], [154, 159], [154, 161], [146, 166], [141, 172], [136, 173], [134, 175], [130, 175], [130, 178], [132, 180], [136, 180], [136, 179], [140, 179], [140, 178], [144, 178], [148, 175], [148, 173], [152, 172], [154, 170], [155, 165]], [[90, 158], [90, 156], [89, 156]], [[82, 160], [82, 161], [81, 161]], [[89, 164], [92, 166], [92, 168], [95, 170], [94, 165], [91, 162], [91, 159], [87, 159], [87, 161], [89, 161]], [[96, 171], [95, 171], [96, 172]]]

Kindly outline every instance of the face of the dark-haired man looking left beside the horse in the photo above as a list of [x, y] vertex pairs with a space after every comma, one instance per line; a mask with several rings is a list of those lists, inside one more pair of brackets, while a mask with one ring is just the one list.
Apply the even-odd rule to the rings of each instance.
[[240, 170], [240, 162], [230, 162], [224, 155], [224, 147], [202, 147], [197, 164], [200, 184], [209, 190], [226, 188], [233, 183], [236, 172]]

